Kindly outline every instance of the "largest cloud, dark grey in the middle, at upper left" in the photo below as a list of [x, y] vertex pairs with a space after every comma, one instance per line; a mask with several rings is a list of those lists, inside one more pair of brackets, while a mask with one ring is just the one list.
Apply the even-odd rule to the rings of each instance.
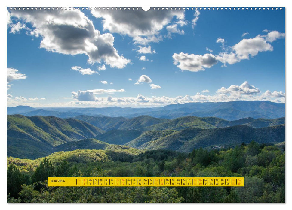
[[124, 68], [131, 61], [114, 48], [114, 37], [101, 34], [80, 10], [11, 10], [19, 22], [30, 23], [28, 33], [41, 37], [40, 48], [65, 55], [85, 54], [88, 63], [104, 62]]

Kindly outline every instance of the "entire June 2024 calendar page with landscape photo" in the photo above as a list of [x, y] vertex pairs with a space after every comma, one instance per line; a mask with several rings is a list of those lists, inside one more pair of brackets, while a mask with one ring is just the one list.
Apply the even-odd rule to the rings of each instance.
[[6, 12], [8, 203], [285, 203], [285, 7]]

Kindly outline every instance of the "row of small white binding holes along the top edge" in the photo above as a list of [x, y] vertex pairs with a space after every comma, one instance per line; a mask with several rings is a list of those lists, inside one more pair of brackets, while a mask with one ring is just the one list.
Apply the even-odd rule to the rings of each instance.
[[[138, 7], [10, 7], [10, 10], [139, 10]], [[141, 8], [140, 8], [141, 9]], [[151, 7], [150, 10], [278, 10], [282, 7]]]

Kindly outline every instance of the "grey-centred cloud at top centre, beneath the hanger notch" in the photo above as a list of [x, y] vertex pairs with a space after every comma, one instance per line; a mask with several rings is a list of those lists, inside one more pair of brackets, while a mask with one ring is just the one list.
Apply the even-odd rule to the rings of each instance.
[[91, 14], [102, 19], [104, 30], [128, 35], [136, 44], [142, 45], [159, 42], [159, 33], [173, 20], [184, 21], [183, 10], [91, 10]]

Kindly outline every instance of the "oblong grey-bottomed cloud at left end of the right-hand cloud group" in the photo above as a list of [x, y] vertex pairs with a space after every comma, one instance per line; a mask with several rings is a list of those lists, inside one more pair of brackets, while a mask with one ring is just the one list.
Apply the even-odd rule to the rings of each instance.
[[181, 70], [186, 71], [204, 71], [204, 68], [211, 68], [217, 63], [217, 60], [212, 54], [194, 55], [180, 52], [180, 54], [174, 53], [172, 56], [174, 59], [174, 65], [177, 65]]

